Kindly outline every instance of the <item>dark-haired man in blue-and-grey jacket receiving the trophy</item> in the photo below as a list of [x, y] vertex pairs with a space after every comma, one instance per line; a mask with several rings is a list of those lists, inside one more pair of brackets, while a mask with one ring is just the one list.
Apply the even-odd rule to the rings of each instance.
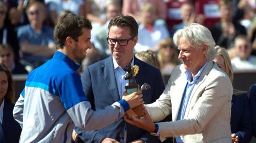
[[70, 142], [74, 124], [99, 129], [143, 103], [138, 91], [104, 109], [92, 110], [76, 71], [79, 65], [74, 62], [91, 48], [91, 29], [83, 16], [65, 13], [58, 17], [54, 28], [57, 51], [29, 74], [14, 108], [14, 117], [22, 126], [20, 142]]

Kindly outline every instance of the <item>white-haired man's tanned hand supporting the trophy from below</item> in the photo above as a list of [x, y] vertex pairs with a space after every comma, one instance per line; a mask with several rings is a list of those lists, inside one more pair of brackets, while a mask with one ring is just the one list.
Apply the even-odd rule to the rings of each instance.
[[153, 132], [155, 130], [154, 122], [146, 108], [144, 108], [144, 112], [145, 112], [144, 118], [139, 119], [134, 116], [125, 115], [124, 119], [126, 122], [128, 122], [130, 124], [133, 124], [133, 125], [136, 125], [137, 127], [143, 128], [143, 129], [147, 130], [148, 132]]

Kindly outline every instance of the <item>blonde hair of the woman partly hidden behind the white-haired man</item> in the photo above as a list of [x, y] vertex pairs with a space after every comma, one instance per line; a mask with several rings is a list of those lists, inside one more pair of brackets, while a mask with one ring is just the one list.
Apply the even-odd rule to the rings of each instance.
[[232, 69], [231, 60], [230, 60], [230, 57], [227, 53], [227, 50], [223, 47], [218, 46], [218, 45], [216, 45], [214, 48], [217, 51], [216, 55], [221, 55], [223, 57], [224, 65], [225, 65], [225, 68], [226, 68], [226, 73], [227, 73], [230, 81], [233, 82], [233, 78], [234, 78], [233, 69]]

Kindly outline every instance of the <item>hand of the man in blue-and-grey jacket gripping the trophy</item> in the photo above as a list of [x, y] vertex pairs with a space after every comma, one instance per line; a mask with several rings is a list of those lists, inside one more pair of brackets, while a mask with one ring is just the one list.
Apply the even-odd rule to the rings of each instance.
[[136, 107], [140, 104], [144, 104], [141, 90], [138, 90], [137, 92], [133, 92], [131, 94], [127, 94], [126, 92], [124, 92], [122, 99], [125, 99], [128, 102], [130, 108]]

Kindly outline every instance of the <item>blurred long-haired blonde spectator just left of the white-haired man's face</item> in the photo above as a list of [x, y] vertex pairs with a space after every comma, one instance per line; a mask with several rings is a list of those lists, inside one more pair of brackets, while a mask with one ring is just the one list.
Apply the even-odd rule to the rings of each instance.
[[167, 38], [160, 42], [158, 59], [162, 75], [170, 75], [174, 67], [180, 64], [177, 49], [172, 38]]

